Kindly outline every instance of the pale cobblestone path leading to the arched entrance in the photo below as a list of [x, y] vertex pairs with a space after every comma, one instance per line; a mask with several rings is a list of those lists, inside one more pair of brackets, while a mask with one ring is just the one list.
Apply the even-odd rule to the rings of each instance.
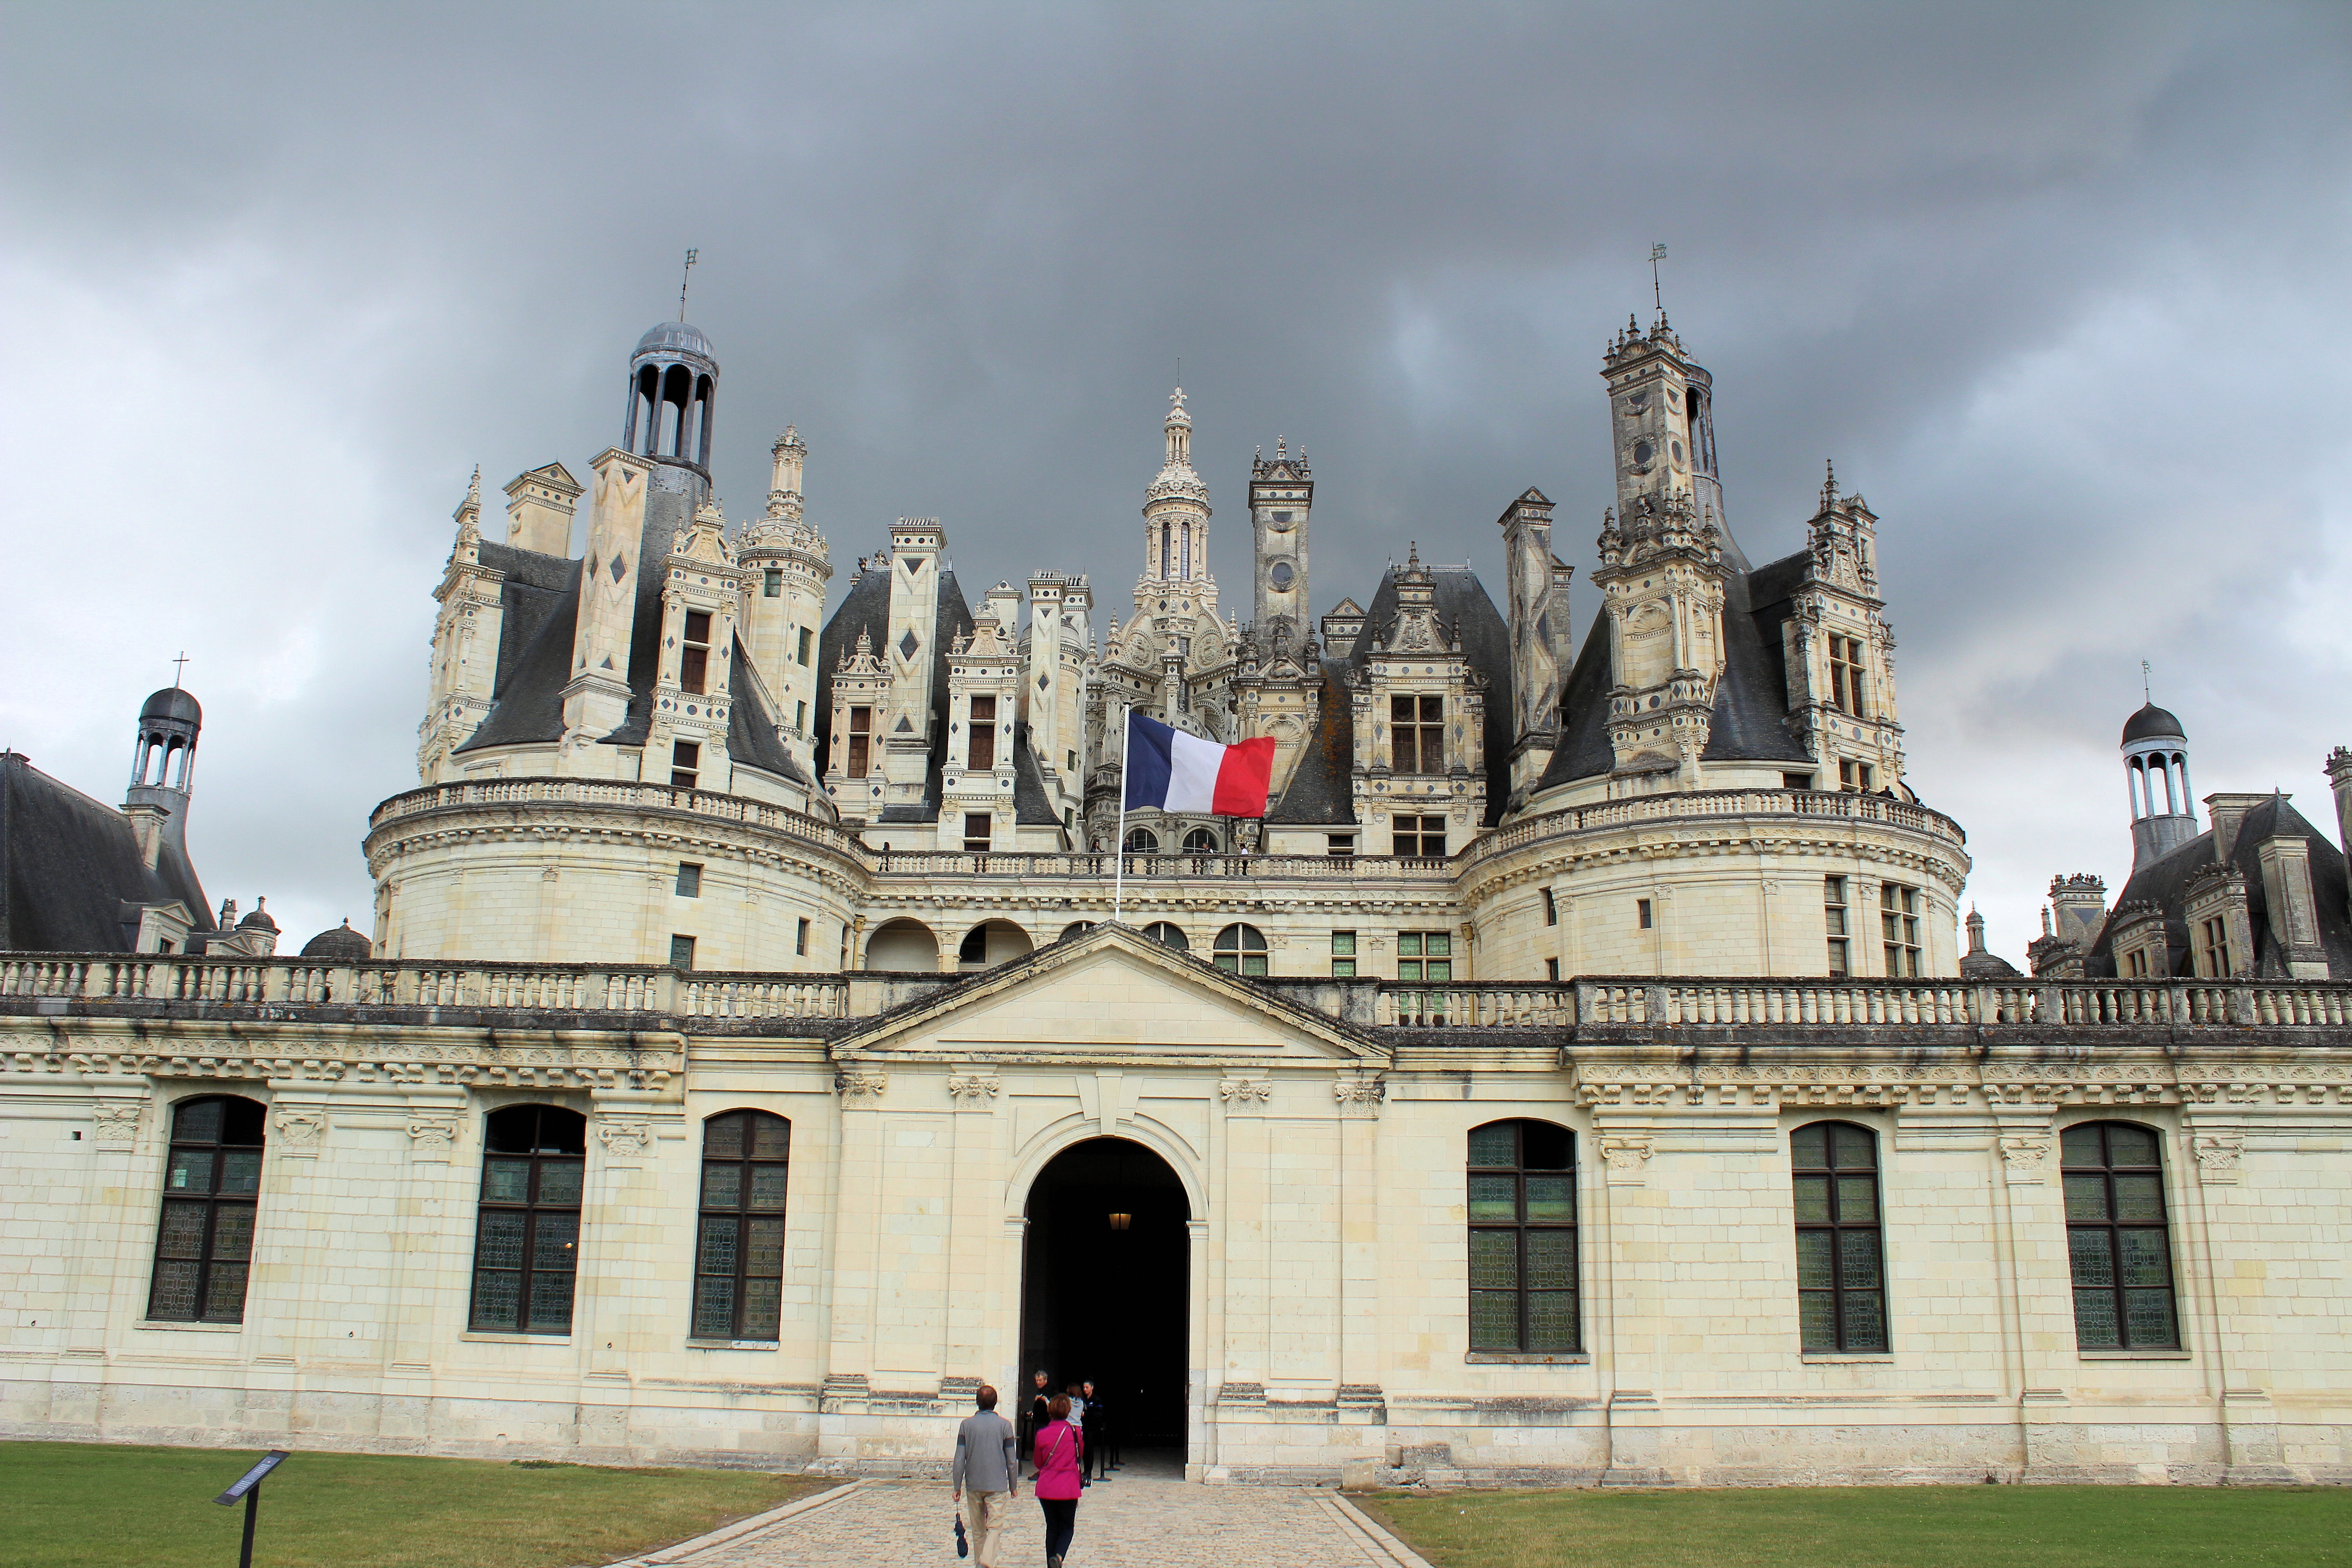
[[[941, 1568], [955, 1556], [946, 1481], [868, 1481], [840, 1502], [696, 1552], [680, 1568]], [[1030, 1488], [1011, 1512], [1000, 1568], [1044, 1563]], [[1357, 1528], [1329, 1495], [1272, 1486], [1195, 1486], [1122, 1469], [1077, 1505], [1070, 1568], [1418, 1568]]]

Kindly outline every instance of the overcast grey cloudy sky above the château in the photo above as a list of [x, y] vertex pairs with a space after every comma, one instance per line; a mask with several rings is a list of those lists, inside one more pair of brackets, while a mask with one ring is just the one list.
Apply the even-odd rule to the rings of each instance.
[[[433, 588], [482, 465], [574, 475], [677, 310], [717, 489], [786, 421], [842, 567], [943, 520], [971, 597], [1122, 614], [1183, 360], [1247, 616], [1254, 447], [1312, 597], [1583, 569], [1599, 350], [1715, 371], [1752, 559], [1823, 458], [1882, 517], [1910, 783], [1994, 950], [2131, 863], [2117, 731], [2296, 795], [2352, 743], [2352, 7], [14, 7], [0, 47], [0, 745], [120, 799], [205, 703], [191, 846], [289, 945], [369, 922]], [[496, 531], [494, 531], [496, 536]], [[1098, 611], [1098, 628], [1103, 614]]]

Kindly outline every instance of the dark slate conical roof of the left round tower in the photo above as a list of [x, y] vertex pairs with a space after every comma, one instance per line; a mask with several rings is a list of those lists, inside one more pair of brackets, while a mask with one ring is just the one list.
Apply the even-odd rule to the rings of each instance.
[[[656, 517], [649, 496], [642, 559], [663, 559], [670, 550], [670, 512]], [[691, 496], [689, 496], [691, 501]], [[492, 677], [489, 715], [459, 745], [477, 752], [492, 745], [548, 745], [564, 736], [564, 686], [572, 682], [572, 637], [579, 623], [581, 562], [539, 555], [513, 545], [482, 543], [482, 564], [503, 571], [499, 588], [503, 621], [499, 625], [499, 672]], [[743, 639], [734, 642], [734, 668], [750, 663]], [[628, 715], [602, 736], [604, 745], [644, 745], [654, 719], [654, 677], [661, 670], [661, 574], [637, 574], [637, 621], [628, 649]], [[729, 682], [727, 755], [734, 762], [809, 783], [793, 752], [776, 733], [776, 717], [750, 682]]]

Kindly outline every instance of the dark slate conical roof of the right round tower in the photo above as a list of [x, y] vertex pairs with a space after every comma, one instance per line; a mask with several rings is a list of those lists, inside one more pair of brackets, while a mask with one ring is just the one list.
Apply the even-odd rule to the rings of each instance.
[[[1715, 684], [1715, 719], [1708, 726], [1708, 750], [1698, 759], [1811, 766], [1813, 757], [1788, 722], [1788, 663], [1780, 651], [1780, 623], [1790, 616], [1790, 597], [1804, 581], [1811, 557], [1797, 550], [1745, 571], [1745, 557], [1729, 536], [1724, 543], [1724, 559], [1733, 564], [1724, 583], [1724, 677]], [[1609, 745], [1613, 684], [1609, 618], [1592, 616], [1585, 646], [1569, 670], [1569, 726], [1534, 792], [1595, 778], [1616, 766], [1616, 748]]]

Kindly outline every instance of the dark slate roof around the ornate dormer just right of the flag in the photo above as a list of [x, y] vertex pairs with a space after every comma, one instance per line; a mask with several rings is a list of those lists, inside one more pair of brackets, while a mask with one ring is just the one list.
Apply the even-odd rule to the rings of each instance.
[[[1510, 804], [1510, 628], [1486, 585], [1470, 567], [1428, 567], [1430, 599], [1449, 632], [1461, 635], [1463, 658], [1486, 679], [1486, 825], [1503, 820]], [[1381, 574], [1381, 588], [1364, 609], [1364, 635], [1348, 658], [1324, 661], [1322, 712], [1291, 783], [1265, 813], [1275, 825], [1355, 823], [1355, 710], [1350, 677], [1371, 658], [1374, 637], [1388, 637], [1397, 618], [1397, 569]]]

